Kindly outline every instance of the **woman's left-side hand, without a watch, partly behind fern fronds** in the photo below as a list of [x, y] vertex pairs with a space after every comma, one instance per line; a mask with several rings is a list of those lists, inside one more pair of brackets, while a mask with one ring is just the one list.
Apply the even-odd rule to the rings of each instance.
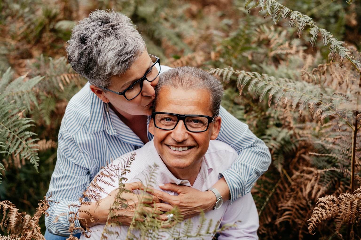
[[[136, 189], [142, 189], [142, 183], [136, 182], [136, 183], [126, 183], [125, 188], [129, 191], [133, 191]], [[84, 218], [87, 220], [87, 227], [92, 227], [97, 224], [105, 224], [106, 220], [108, 219], [109, 209], [110, 206], [113, 205], [115, 197], [119, 191], [119, 188], [114, 189], [108, 196], [103, 198], [99, 204], [99, 206], [95, 206], [95, 202], [92, 202], [91, 205], [81, 205], [79, 209], [79, 218]], [[135, 195], [134, 193], [122, 193], [122, 198], [124, 198], [127, 201], [128, 208], [119, 210], [116, 214], [122, 214], [124, 217], [119, 218], [119, 221], [126, 225], [130, 226], [130, 223], [132, 221], [132, 218], [134, 217], [134, 212], [139, 207], [139, 200], [140, 196]], [[153, 202], [160, 202], [156, 196], [150, 196], [149, 198], [143, 198], [142, 202], [144, 204], [152, 204]], [[152, 208], [145, 207], [142, 209], [143, 211], [149, 211], [152, 212]], [[84, 211], [88, 211], [92, 216], [93, 219], [96, 222], [90, 221], [90, 216], [87, 213], [84, 213]], [[162, 214], [161, 211], [158, 211], [157, 214]], [[144, 220], [144, 219], [139, 219]], [[80, 221], [80, 224], [83, 228], [85, 228], [85, 222]]]

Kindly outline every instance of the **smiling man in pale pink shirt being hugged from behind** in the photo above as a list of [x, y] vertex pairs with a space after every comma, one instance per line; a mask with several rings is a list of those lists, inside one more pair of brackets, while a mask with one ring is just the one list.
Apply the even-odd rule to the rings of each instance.
[[[237, 158], [237, 152], [232, 147], [215, 140], [221, 129], [221, 117], [218, 113], [222, 95], [222, 85], [216, 78], [202, 70], [178, 67], [163, 73], [156, 88], [155, 112], [152, 113], [153, 119], [149, 123], [149, 132], [154, 138], [142, 148], [132, 152], [136, 153], [136, 157], [130, 166], [130, 172], [125, 175], [127, 182], [140, 179], [144, 183], [149, 175], [150, 166], [155, 163], [159, 166], [155, 177], [157, 185], [171, 182], [210, 193], [213, 190], [216, 192], [215, 195], [218, 194], [217, 190], [211, 187], [218, 181], [219, 174], [228, 169]], [[122, 166], [123, 159], [129, 155], [129, 153], [125, 154], [110, 163], [109, 169]], [[222, 157], [221, 161], [219, 157]], [[112, 179], [114, 183], [118, 183], [117, 178]], [[93, 191], [99, 193], [101, 198], [117, 188], [105, 184], [104, 181], [97, 181], [97, 184], [100, 188], [104, 188], [104, 192], [97, 189]], [[237, 225], [221, 232], [219, 240], [258, 239], [258, 214], [251, 193], [238, 198], [232, 205], [230, 201], [216, 204], [214, 210], [205, 213], [205, 218], [207, 220], [203, 223], [204, 229], [201, 231], [203, 234], [212, 219], [210, 231], [218, 228], [216, 224], [219, 220], [221, 220], [220, 226], [233, 223]], [[198, 232], [200, 216], [192, 217], [191, 221], [193, 226], [187, 235], [195, 236]], [[185, 239], [186, 236], [182, 236], [182, 232], [188, 227], [185, 225], [187, 223], [189, 224], [188, 221], [183, 221], [176, 225], [175, 230], [171, 230], [171, 234]], [[104, 226], [101, 224], [91, 227], [90, 230], [93, 232], [90, 233], [90, 239], [99, 240]], [[106, 235], [106, 237], [126, 239], [129, 227], [119, 226], [119, 228], [111, 228], [111, 231], [116, 231], [119, 235]], [[138, 231], [132, 234], [139, 237]], [[161, 239], [170, 237], [167, 232], [162, 232], [161, 236]], [[213, 236], [205, 234], [203, 237], [212, 239]], [[199, 239], [200, 236], [197, 238]], [[83, 235], [81, 240], [85, 239], [87, 237]]]

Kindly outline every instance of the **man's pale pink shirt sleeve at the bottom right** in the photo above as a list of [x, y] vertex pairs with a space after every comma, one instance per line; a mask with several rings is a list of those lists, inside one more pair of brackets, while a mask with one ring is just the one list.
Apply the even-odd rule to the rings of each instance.
[[221, 226], [236, 224], [218, 236], [218, 240], [248, 239], [258, 240], [257, 230], [260, 226], [255, 202], [251, 193], [238, 198], [232, 205], [229, 204], [223, 215]]

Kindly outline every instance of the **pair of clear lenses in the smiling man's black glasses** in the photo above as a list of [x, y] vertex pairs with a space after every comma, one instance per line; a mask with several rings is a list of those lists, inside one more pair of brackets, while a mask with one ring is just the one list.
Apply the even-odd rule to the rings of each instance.
[[[177, 116], [164, 113], [157, 113], [154, 119], [156, 126], [165, 130], [172, 130], [178, 121]], [[208, 119], [205, 117], [188, 116], [184, 119], [184, 123], [189, 131], [194, 132], [204, 131], [208, 127]]]

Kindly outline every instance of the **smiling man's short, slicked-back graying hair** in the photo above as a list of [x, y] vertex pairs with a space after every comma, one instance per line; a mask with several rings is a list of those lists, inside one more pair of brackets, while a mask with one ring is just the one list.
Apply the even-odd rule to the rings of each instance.
[[[159, 77], [155, 88], [156, 96], [164, 87], [175, 89], [204, 89], [210, 93], [210, 110], [214, 116], [219, 114], [219, 106], [223, 97], [223, 86], [215, 77], [195, 67], [176, 67], [165, 71]], [[154, 109], [157, 105], [157, 97], [154, 102]]]

